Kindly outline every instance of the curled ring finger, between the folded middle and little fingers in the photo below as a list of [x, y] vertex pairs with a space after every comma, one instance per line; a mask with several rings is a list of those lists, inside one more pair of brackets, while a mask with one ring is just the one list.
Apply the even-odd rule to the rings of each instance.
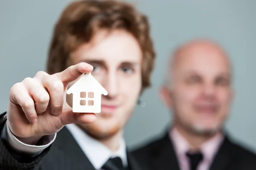
[[26, 78], [23, 80], [29, 94], [35, 101], [35, 111], [38, 114], [42, 114], [46, 111], [49, 104], [49, 94], [38, 81], [38, 79]]

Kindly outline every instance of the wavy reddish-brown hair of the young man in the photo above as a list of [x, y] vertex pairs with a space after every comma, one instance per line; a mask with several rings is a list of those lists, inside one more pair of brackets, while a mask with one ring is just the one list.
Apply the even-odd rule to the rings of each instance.
[[142, 88], [149, 87], [155, 51], [148, 19], [132, 4], [115, 0], [80, 0], [64, 9], [53, 31], [47, 72], [55, 74], [65, 70], [70, 54], [81, 44], [90, 42], [102, 28], [125, 29], [136, 38], [143, 54]]

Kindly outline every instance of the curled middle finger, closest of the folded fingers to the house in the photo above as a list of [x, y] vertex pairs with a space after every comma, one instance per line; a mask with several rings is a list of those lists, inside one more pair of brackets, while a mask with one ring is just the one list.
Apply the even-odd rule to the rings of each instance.
[[63, 107], [64, 102], [64, 86], [61, 80], [59, 80], [55, 75], [50, 75], [42, 79], [42, 83], [50, 94], [50, 108], [51, 113], [58, 116]]

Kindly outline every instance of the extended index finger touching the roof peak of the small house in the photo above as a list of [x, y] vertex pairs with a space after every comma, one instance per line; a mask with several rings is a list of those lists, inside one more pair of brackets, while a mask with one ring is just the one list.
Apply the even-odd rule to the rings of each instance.
[[56, 76], [61, 79], [64, 85], [78, 79], [82, 74], [88, 74], [93, 71], [93, 66], [86, 62], [80, 62], [79, 64], [72, 65], [66, 70], [57, 73]]

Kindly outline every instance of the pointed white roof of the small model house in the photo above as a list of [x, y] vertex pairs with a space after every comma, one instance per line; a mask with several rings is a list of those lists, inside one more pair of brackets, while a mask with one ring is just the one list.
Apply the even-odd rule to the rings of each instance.
[[91, 75], [84, 74], [75, 84], [73, 84], [68, 90], [67, 94], [74, 93], [76, 91], [98, 91], [104, 95], [108, 94], [108, 91], [102, 87], [102, 85]]

